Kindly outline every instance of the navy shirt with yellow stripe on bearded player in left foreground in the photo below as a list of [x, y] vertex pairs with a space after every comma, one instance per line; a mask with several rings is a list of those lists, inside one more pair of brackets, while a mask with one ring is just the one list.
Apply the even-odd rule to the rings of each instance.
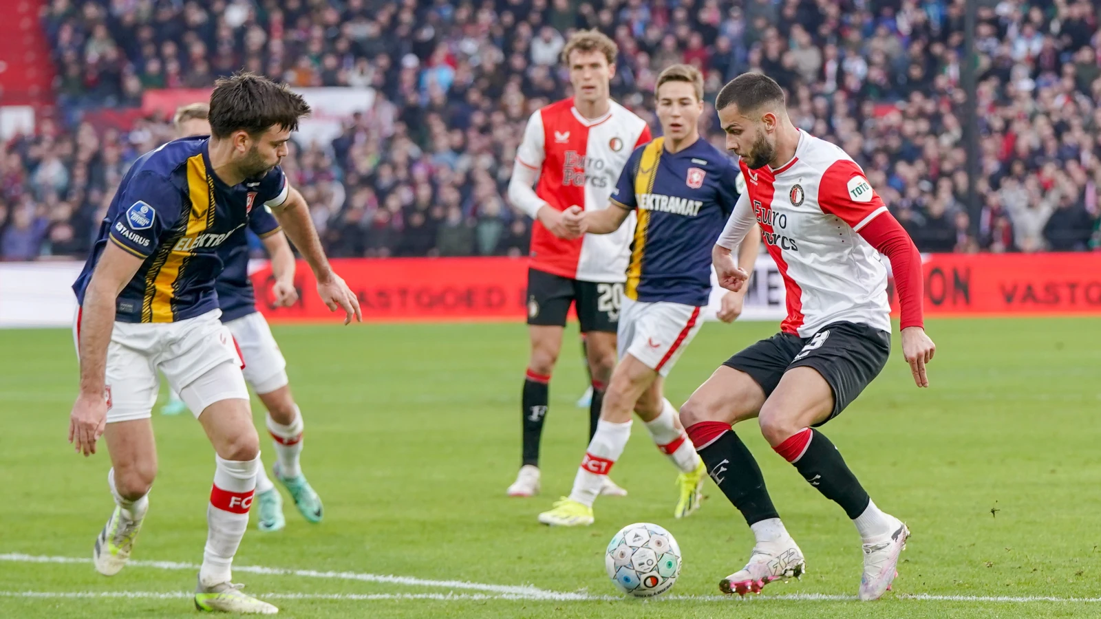
[[[139, 158], [123, 176], [80, 276], [77, 302], [108, 242], [143, 258], [116, 301], [116, 319], [172, 323], [218, 307], [215, 278], [227, 241], [243, 242], [253, 205], [279, 206], [288, 187], [277, 166], [229, 186], [210, 166], [208, 139], [184, 138]], [[240, 232], [240, 234], [238, 234]]]

